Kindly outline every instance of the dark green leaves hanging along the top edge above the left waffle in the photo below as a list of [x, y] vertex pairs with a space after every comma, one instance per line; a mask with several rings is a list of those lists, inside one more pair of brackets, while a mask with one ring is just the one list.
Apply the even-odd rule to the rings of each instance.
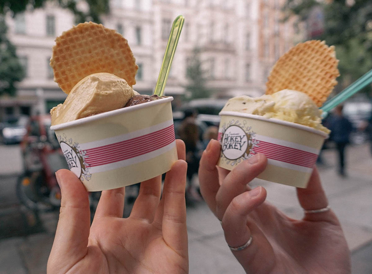
[[[42, 7], [44, 3], [52, 0], [0, 0], [0, 13], [4, 14], [11, 10], [14, 14], [24, 12], [28, 7]], [[62, 8], [69, 9], [76, 17], [76, 23], [92, 21], [101, 23], [99, 16], [109, 12], [109, 0], [85, 0], [89, 6], [87, 13], [77, 9], [76, 0], [58, 0]]]

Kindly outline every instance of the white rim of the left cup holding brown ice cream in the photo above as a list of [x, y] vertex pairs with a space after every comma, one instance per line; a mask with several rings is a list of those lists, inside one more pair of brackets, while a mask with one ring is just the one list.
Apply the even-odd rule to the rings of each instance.
[[[151, 96], [151, 95], [149, 95], [149, 96]], [[111, 111], [106, 111], [106, 112], [103, 112], [103, 113], [100, 113], [100, 114], [95, 114], [95, 115], [92, 115], [92, 116], [89, 116], [89, 117], [80, 118], [80, 119], [77, 119], [77, 120], [74, 120], [74, 121], [65, 122], [65, 123], [58, 124], [58, 125], [52, 125], [50, 127], [50, 129], [51, 130], [60, 130], [60, 129], [67, 128], [67, 127], [73, 127], [75, 125], [86, 124], [87, 122], [92, 122], [92, 121], [100, 120], [100, 119], [107, 118], [107, 117], [110, 117], [110, 116], [122, 114], [122, 113], [125, 113], [125, 112], [135, 111], [137, 109], [146, 108], [148, 106], [153, 106], [153, 105], [157, 105], [157, 104], [160, 104], [160, 103], [166, 103], [166, 102], [171, 102], [171, 101], [173, 101], [173, 97], [169, 96], [169, 97], [166, 97], [166, 98], [157, 99], [155, 101], [140, 103], [140, 104], [134, 105], [134, 106], [127, 106], [126, 108], [118, 108], [118, 109], [114, 109], [114, 110], [111, 110]]]

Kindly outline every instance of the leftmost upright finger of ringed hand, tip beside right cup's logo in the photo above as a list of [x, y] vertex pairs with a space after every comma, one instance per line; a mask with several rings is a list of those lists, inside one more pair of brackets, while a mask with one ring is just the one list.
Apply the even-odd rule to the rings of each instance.
[[215, 215], [217, 207], [216, 194], [219, 189], [219, 177], [216, 165], [220, 150], [221, 144], [219, 141], [212, 139], [203, 152], [198, 172], [201, 194]]

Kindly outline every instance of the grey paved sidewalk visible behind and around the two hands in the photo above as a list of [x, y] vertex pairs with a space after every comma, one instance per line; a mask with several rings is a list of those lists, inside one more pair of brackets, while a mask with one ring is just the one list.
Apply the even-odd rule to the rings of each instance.
[[[336, 175], [335, 152], [325, 151], [328, 167], [319, 168], [330, 207], [340, 219], [352, 252], [352, 273], [372, 273], [372, 157], [367, 145], [350, 147], [348, 177]], [[289, 217], [301, 218], [295, 189], [255, 179], [267, 189], [267, 201]], [[0, 274], [45, 273], [58, 213], [42, 216], [45, 231], [0, 241]], [[190, 273], [244, 273], [224, 240], [221, 225], [205, 203], [187, 208]]]

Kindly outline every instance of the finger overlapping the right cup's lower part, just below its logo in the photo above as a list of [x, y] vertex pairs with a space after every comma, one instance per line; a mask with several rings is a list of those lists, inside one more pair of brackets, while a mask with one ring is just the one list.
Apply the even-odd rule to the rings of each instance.
[[257, 153], [237, 165], [225, 178], [216, 194], [216, 215], [221, 220], [225, 210], [237, 195], [247, 191], [247, 184], [266, 168], [264, 154]]

